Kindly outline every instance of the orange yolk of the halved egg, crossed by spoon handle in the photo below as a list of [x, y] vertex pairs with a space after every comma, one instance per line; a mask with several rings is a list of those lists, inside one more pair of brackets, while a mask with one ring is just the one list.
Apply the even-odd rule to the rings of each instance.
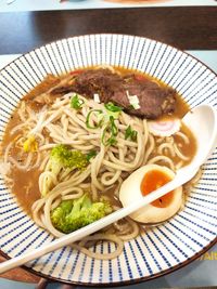
[[[170, 182], [171, 178], [165, 172], [152, 170], [145, 173], [142, 179], [140, 189], [143, 196]], [[167, 193], [163, 197], [151, 202], [152, 206], [157, 208], [166, 208], [169, 206], [174, 198], [174, 191]]]

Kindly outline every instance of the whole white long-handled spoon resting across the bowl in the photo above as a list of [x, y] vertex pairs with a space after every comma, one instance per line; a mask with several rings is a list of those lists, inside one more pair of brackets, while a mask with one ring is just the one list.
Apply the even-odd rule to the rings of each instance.
[[177, 171], [175, 179], [164, 185], [163, 187], [152, 192], [148, 196], [143, 197], [142, 200], [135, 201], [126, 208], [122, 208], [116, 212], [113, 212], [105, 218], [87, 225], [80, 229], [77, 229], [68, 235], [65, 235], [59, 239], [55, 239], [51, 244], [48, 244], [41, 248], [31, 250], [23, 255], [15, 257], [0, 264], [0, 274], [11, 268], [21, 266], [34, 259], [44, 255], [51, 251], [55, 251], [64, 246], [75, 242], [87, 235], [90, 235], [114, 222], [120, 220], [132, 212], [141, 209], [145, 205], [154, 201], [155, 199], [166, 195], [168, 192], [176, 187], [184, 184], [191, 180], [199, 167], [206, 160], [214, 146], [216, 145], [217, 139], [217, 114], [214, 107], [209, 105], [200, 105], [192, 111], [188, 113], [183, 122], [193, 132], [197, 141], [197, 152], [190, 165], [181, 168]]

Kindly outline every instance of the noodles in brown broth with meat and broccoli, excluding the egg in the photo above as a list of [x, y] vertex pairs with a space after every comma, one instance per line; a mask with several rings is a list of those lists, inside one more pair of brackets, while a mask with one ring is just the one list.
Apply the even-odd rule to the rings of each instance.
[[[34, 221], [61, 237], [120, 208], [122, 183], [138, 168], [157, 165], [176, 173], [189, 163], [196, 143], [181, 123], [187, 111], [176, 91], [138, 71], [91, 67], [48, 76], [7, 127], [5, 181]], [[139, 232], [140, 224], [126, 218], [73, 246], [112, 259]], [[116, 242], [116, 251], [88, 249], [103, 239]]]

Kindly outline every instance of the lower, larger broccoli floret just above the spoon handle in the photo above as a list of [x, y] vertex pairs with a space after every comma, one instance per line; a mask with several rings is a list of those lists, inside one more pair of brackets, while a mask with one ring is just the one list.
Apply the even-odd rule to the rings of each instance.
[[53, 226], [62, 233], [68, 234], [84, 227], [112, 212], [106, 201], [92, 202], [85, 194], [75, 200], [63, 200], [51, 211]]

